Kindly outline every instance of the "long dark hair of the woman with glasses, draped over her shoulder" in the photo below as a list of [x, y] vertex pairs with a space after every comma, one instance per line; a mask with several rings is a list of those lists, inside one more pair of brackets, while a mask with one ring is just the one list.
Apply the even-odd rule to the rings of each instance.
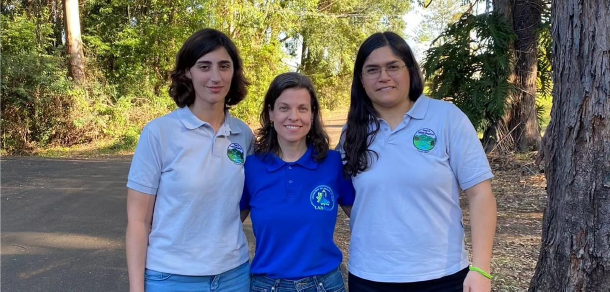
[[[424, 82], [419, 65], [407, 42], [393, 32], [378, 32], [368, 37], [356, 55], [354, 64], [354, 77], [352, 80], [352, 93], [349, 112], [347, 114], [347, 126], [342, 133], [344, 136], [343, 150], [343, 173], [345, 176], [356, 176], [366, 171], [373, 158], [379, 154], [369, 147], [375, 140], [379, 131], [379, 113], [373, 107], [371, 98], [366, 94], [362, 85], [362, 67], [368, 56], [376, 49], [390, 47], [392, 52], [402, 59], [409, 70], [411, 86], [409, 88], [409, 99], [416, 101], [422, 94]], [[372, 131], [369, 125], [374, 125]]]

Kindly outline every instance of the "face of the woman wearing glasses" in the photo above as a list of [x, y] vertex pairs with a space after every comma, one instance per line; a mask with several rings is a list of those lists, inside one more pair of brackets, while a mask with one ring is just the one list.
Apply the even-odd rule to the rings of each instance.
[[360, 80], [378, 110], [409, 102], [409, 70], [388, 46], [374, 50], [366, 58]]

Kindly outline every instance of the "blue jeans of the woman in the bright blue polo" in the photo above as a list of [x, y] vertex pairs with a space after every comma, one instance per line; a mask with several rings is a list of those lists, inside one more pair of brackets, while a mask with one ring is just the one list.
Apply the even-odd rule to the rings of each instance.
[[275, 280], [262, 275], [252, 275], [250, 291], [253, 292], [345, 292], [343, 276], [336, 269], [323, 276], [299, 280]]

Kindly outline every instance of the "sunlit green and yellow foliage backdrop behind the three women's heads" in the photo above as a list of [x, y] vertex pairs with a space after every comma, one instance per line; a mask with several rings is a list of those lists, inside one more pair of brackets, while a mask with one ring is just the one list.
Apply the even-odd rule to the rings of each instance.
[[[10, 4], [10, 5], [9, 5]], [[115, 140], [133, 147], [143, 125], [175, 108], [169, 74], [182, 43], [205, 27], [234, 40], [251, 82], [232, 114], [255, 125], [275, 76], [309, 75], [322, 106], [349, 100], [360, 43], [402, 31], [408, 1], [81, 0], [87, 80], [66, 78], [61, 2], [0, 3], [2, 148], [31, 151]], [[10, 7], [10, 8], [9, 8]], [[17, 68], [19, 67], [19, 68]]]

